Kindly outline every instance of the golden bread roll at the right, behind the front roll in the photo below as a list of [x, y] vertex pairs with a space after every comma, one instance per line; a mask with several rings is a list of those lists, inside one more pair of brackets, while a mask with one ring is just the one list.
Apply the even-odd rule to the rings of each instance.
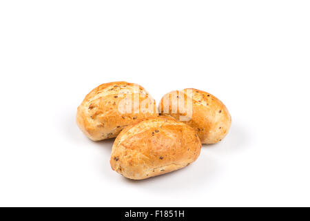
[[167, 93], [159, 104], [160, 114], [192, 126], [202, 144], [215, 144], [228, 133], [231, 116], [213, 95], [194, 88]]

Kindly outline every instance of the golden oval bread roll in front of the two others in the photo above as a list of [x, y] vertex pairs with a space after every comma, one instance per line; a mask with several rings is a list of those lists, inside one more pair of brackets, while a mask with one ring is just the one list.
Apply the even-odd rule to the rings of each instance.
[[194, 162], [201, 143], [193, 128], [172, 117], [149, 117], [127, 126], [116, 137], [110, 164], [132, 180], [181, 169]]

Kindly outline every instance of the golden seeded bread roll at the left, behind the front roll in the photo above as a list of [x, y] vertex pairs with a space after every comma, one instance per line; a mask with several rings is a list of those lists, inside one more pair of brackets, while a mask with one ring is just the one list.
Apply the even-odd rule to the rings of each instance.
[[91, 140], [116, 137], [138, 119], [158, 116], [155, 100], [138, 84], [125, 81], [101, 84], [86, 95], [77, 109], [76, 123]]

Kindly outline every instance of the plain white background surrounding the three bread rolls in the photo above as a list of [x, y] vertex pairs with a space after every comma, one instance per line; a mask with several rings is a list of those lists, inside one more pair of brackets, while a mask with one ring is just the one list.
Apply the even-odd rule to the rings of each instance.
[[[1, 1], [0, 206], [310, 206], [309, 1]], [[229, 135], [131, 181], [75, 124], [92, 88], [220, 98]]]

